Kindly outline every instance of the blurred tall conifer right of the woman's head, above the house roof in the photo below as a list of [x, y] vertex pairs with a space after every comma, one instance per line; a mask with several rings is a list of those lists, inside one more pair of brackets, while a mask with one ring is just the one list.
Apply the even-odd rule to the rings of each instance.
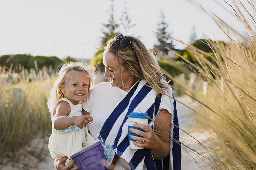
[[[159, 33], [171, 37], [171, 33], [168, 32], [168, 23], [166, 23], [165, 21], [165, 14], [163, 13], [163, 11], [161, 11], [160, 22], [157, 25], [157, 30]], [[156, 44], [156, 46], [164, 45], [167, 47], [174, 47], [172, 39], [163, 37], [161, 35], [156, 35], [156, 37], [158, 41], [158, 44]]]

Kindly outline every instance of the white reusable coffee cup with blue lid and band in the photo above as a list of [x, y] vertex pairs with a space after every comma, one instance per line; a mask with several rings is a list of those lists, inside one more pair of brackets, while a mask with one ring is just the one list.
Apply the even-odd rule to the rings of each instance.
[[[144, 115], [145, 114], [145, 115]], [[140, 124], [145, 124], [147, 126], [148, 124], [148, 114], [147, 113], [135, 113], [135, 112], [131, 112], [129, 115], [127, 115], [127, 117], [129, 117], [129, 126], [128, 126], [128, 129], [129, 128], [134, 128], [134, 129], [139, 129], [141, 131], [144, 131], [140, 128], [136, 128], [136, 127], [133, 127], [133, 124], [134, 123], [140, 123]], [[130, 148], [131, 149], [144, 149], [144, 147], [138, 147], [138, 146], [135, 146], [133, 144], [133, 139], [130, 138], [130, 135], [133, 135], [133, 136], [138, 136], [138, 137], [142, 137], [140, 135], [137, 135], [135, 133], [131, 133], [129, 130], [128, 130], [128, 137], [129, 137], [129, 140], [130, 140]], [[136, 141], [138, 143], [141, 143], [139, 141]]]

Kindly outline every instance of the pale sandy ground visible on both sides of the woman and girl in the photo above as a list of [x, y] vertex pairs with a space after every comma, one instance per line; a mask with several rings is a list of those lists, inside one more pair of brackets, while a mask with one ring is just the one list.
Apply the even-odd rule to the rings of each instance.
[[[196, 103], [195, 102], [191, 102], [191, 100], [189, 100], [188, 97], [177, 97], [177, 100], [183, 102], [184, 104], [190, 106], [190, 107], [196, 107]], [[183, 129], [184, 131], [188, 132], [190, 135], [192, 135], [193, 137], [195, 137], [196, 139], [198, 139], [200, 142], [203, 142], [204, 144], [206, 144], [205, 140], [206, 140], [206, 134], [195, 131], [194, 130], [194, 126], [195, 126], [195, 122], [193, 121], [193, 116], [196, 116], [196, 114], [193, 114], [193, 112], [183, 106], [182, 104], [180, 104], [179, 102], [177, 102], [177, 112], [178, 112], [178, 116], [179, 116], [179, 126], [181, 129]], [[196, 151], [198, 151], [199, 153], [205, 155], [205, 149], [200, 147], [200, 145], [197, 145], [193, 142], [187, 141], [187, 140], [192, 140], [192, 138], [187, 135], [186, 133], [180, 131], [180, 137], [183, 138], [181, 139], [181, 142], [184, 143], [185, 145], [188, 145], [190, 148], [195, 149]], [[25, 165], [35, 165], [37, 164], [36, 168], [31, 168], [31, 166], [25, 166], [24, 164], [14, 164], [14, 166], [12, 166], [11, 163], [5, 165], [4, 167], [1, 168], [2, 165], [0, 165], [1, 170], [20, 170], [20, 169], [30, 169], [30, 170], [54, 170], [54, 165], [53, 162], [54, 160], [51, 158], [49, 151], [48, 151], [48, 144], [47, 144], [47, 140], [48, 138], [44, 139], [44, 140], [35, 140], [35, 146], [40, 146], [40, 149], [44, 149], [44, 156], [46, 157], [46, 159], [42, 162], [37, 163], [37, 160], [35, 160], [33, 157], [28, 157], [28, 158], [24, 158], [24, 161], [26, 162]], [[191, 156], [189, 156], [189, 154], [185, 151], [187, 150], [187, 152], [189, 154], [191, 154], [191, 156], [193, 156], [193, 158], [199, 163], [199, 165], [203, 168], [203, 170], [210, 170], [209, 165], [206, 164], [204, 161], [202, 161], [198, 156], [196, 156], [194, 154], [194, 152], [189, 151], [189, 149], [184, 149], [182, 148], [182, 165], [181, 165], [181, 169], [182, 170], [200, 170], [201, 168], [197, 165], [197, 163], [193, 160], [193, 158], [191, 158]], [[34, 166], [32, 166], [34, 167]]]

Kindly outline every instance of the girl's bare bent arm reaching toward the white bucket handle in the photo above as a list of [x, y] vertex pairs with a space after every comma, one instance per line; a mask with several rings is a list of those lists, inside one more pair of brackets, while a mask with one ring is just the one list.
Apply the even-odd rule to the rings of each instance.
[[70, 126], [76, 125], [79, 128], [83, 128], [88, 124], [93, 118], [89, 115], [82, 115], [82, 116], [70, 116], [71, 108], [70, 105], [63, 101], [58, 104], [56, 107], [56, 112], [54, 114], [54, 122], [53, 127], [56, 130], [64, 130]]

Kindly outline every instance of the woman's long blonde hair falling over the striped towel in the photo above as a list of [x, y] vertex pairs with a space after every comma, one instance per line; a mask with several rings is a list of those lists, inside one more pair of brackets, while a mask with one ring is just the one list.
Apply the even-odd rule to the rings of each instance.
[[119, 62], [138, 79], [145, 79], [155, 90], [157, 96], [165, 94], [167, 84], [164, 84], [161, 80], [165, 78], [155, 55], [138, 38], [133, 36], [124, 36], [124, 38], [129, 38], [132, 45], [121, 47], [119, 45], [120, 39], [110, 39], [105, 52], [113, 53]]

